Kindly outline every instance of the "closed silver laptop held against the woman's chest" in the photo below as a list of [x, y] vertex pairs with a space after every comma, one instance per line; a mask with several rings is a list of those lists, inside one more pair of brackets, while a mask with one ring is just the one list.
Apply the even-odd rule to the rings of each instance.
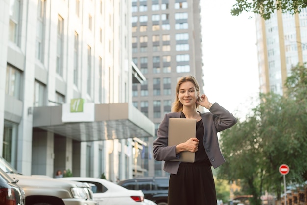
[[[186, 142], [196, 135], [196, 119], [170, 118], [168, 124], [168, 146]], [[179, 159], [171, 161], [194, 162], [195, 153], [183, 151]]]

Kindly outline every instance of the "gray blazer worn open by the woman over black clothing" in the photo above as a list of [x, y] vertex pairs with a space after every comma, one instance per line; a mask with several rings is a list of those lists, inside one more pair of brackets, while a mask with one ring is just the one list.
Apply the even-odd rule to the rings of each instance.
[[[176, 155], [175, 145], [167, 146], [168, 121], [169, 118], [180, 118], [180, 115], [181, 112], [165, 114], [157, 131], [157, 139], [153, 142], [154, 159], [157, 161], [165, 161], [163, 170], [171, 174], [177, 174], [181, 162], [170, 161], [179, 158], [179, 155]], [[220, 150], [217, 132], [230, 128], [237, 120], [229, 111], [218, 103], [214, 103], [211, 106], [210, 112], [201, 113], [201, 117], [204, 125], [203, 146], [212, 166], [217, 168], [225, 162], [224, 156]]]

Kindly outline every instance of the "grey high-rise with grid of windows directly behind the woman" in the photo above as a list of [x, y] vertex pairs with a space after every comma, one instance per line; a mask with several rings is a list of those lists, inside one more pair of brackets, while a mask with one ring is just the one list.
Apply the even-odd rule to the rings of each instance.
[[[132, 0], [132, 56], [146, 81], [133, 85], [133, 105], [157, 128], [171, 112], [180, 77], [193, 75], [203, 92], [199, 0]], [[153, 145], [155, 138], [148, 140]], [[150, 147], [149, 147], [150, 148]], [[145, 160], [149, 176], [167, 175], [163, 162]]]

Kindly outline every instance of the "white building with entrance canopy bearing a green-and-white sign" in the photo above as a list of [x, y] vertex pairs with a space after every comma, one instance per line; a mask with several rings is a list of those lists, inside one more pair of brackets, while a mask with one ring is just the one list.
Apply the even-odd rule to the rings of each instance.
[[145, 77], [132, 62], [131, 1], [0, 8], [0, 156], [26, 175], [132, 178], [131, 145], [154, 124], [132, 105]]

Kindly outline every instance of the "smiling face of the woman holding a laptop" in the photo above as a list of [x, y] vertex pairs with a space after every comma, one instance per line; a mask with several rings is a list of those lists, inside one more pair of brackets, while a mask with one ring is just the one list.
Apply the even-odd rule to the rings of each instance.
[[177, 94], [180, 103], [183, 106], [195, 106], [198, 98], [198, 92], [196, 91], [195, 85], [190, 82], [183, 82], [179, 86], [179, 92]]

